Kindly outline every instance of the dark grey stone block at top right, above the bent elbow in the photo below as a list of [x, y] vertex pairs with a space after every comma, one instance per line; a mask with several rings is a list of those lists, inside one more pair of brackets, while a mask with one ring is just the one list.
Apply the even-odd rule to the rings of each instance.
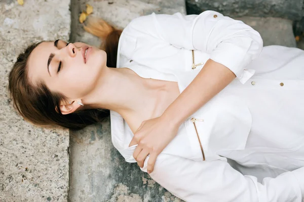
[[300, 20], [304, 16], [302, 0], [186, 0], [187, 14], [214, 10], [230, 17], [281, 17]]

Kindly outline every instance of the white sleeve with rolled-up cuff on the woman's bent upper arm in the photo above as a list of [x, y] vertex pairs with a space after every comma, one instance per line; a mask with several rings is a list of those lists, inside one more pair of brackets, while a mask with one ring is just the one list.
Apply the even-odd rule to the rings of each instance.
[[256, 30], [215, 11], [186, 16], [153, 13], [132, 20], [126, 28], [132, 35], [144, 33], [178, 48], [204, 51], [211, 60], [229, 68], [242, 83], [254, 74], [244, 70], [263, 47]]

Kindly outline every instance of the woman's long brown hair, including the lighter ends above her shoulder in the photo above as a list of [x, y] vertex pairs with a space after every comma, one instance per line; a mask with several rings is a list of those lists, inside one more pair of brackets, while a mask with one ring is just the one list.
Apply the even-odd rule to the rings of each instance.
[[[84, 29], [103, 41], [101, 48], [107, 54], [107, 66], [116, 67], [118, 41], [122, 30], [115, 29], [104, 20], [97, 18], [89, 19]], [[82, 129], [108, 117], [109, 110], [107, 109], [86, 109], [63, 115], [60, 111], [60, 102], [66, 101], [63, 94], [51, 92], [42, 82], [37, 85], [29, 82], [28, 58], [33, 49], [42, 42], [44, 41], [29, 45], [18, 56], [9, 74], [10, 96], [20, 115], [35, 125], [59, 125], [72, 130]]]

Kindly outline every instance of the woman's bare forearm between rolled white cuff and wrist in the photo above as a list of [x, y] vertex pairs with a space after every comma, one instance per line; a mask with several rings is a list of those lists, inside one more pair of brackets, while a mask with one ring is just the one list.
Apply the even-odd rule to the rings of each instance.
[[165, 110], [162, 117], [168, 120], [167, 123], [180, 126], [187, 117], [205, 105], [234, 78], [236, 76], [230, 69], [209, 59], [194, 80]]

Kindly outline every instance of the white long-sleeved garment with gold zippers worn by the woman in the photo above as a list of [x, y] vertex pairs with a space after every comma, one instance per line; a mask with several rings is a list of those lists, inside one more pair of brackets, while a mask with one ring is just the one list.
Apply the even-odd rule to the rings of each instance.
[[[143, 78], [176, 81], [182, 92], [204, 67], [192, 69], [191, 49], [196, 64], [211, 58], [237, 79], [180, 125], [150, 176], [185, 201], [300, 202], [304, 51], [262, 48], [258, 32], [214, 11], [151, 14], [124, 29], [117, 68], [130, 68]], [[204, 119], [196, 124], [206, 161], [193, 117]], [[128, 124], [114, 111], [110, 120], [113, 145], [127, 162], [136, 162], [136, 145], [128, 147], [133, 137]]]

